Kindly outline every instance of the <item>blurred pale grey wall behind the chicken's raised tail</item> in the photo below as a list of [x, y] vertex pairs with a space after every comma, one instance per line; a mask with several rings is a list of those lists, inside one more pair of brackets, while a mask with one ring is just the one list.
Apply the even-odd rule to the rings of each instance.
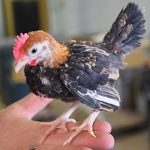
[[[52, 34], [67, 37], [107, 32], [129, 0], [47, 0]], [[135, 0], [145, 7], [147, 35], [150, 33], [150, 0]]]

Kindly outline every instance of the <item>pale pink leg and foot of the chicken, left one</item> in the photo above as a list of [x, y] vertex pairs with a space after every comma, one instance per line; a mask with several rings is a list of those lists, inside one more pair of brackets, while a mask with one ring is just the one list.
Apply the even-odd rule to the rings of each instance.
[[56, 128], [63, 129], [64, 131], [68, 131], [67, 123], [68, 122], [76, 122], [74, 119], [69, 119], [71, 114], [80, 106], [80, 102], [74, 102], [73, 105], [65, 111], [61, 116], [59, 116], [56, 120], [49, 123], [50, 128], [46, 131], [46, 133], [42, 136], [40, 143], [42, 144], [44, 140], [49, 136], [49, 134], [55, 130]]

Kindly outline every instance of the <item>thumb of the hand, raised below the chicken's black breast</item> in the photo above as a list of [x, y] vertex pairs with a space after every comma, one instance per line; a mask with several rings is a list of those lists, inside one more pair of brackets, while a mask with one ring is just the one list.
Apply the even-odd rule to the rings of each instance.
[[28, 119], [31, 119], [51, 101], [52, 99], [41, 98], [33, 93], [30, 93], [21, 100], [12, 104], [10, 107], [8, 107], [8, 109], [11, 109], [18, 115], [22, 115]]

